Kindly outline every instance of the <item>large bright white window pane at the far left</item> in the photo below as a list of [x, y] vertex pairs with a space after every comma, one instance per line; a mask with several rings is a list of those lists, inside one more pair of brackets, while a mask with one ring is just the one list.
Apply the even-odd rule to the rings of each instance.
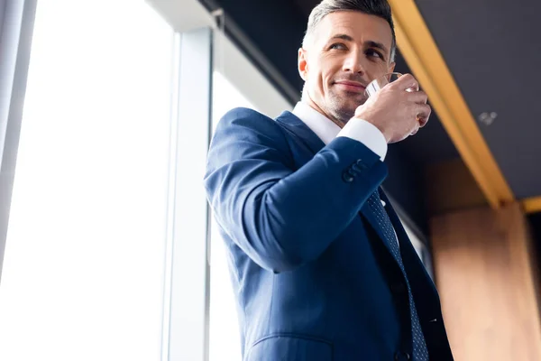
[[38, 3], [0, 360], [160, 360], [172, 33], [142, 1]]

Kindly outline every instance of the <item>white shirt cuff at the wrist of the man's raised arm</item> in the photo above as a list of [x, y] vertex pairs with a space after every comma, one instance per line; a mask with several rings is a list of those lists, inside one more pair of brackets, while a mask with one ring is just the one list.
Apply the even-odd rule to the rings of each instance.
[[361, 142], [373, 153], [380, 156], [381, 162], [387, 155], [387, 141], [376, 125], [368, 123], [364, 119], [354, 118], [344, 125], [344, 128], [336, 136], [345, 136], [355, 141]]

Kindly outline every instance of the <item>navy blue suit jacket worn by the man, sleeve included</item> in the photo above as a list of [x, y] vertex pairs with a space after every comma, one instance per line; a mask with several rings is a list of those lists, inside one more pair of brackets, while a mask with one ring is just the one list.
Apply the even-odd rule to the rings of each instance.
[[[325, 145], [289, 112], [271, 119], [236, 108], [221, 119], [205, 186], [229, 255], [244, 360], [411, 355], [406, 283], [365, 205], [386, 176], [362, 143]], [[430, 358], [452, 360], [434, 283], [380, 192]]]

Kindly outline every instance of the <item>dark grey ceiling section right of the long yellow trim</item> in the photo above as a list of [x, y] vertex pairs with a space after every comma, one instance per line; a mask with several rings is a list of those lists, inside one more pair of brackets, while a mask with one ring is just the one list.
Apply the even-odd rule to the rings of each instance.
[[416, 3], [473, 116], [498, 114], [480, 130], [515, 197], [541, 195], [541, 2]]

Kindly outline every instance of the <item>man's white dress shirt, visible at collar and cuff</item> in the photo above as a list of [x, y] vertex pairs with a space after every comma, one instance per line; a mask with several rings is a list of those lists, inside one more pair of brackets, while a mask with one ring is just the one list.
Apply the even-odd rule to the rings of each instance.
[[[312, 132], [316, 133], [325, 144], [331, 143], [337, 136], [345, 136], [366, 145], [373, 153], [380, 156], [381, 162], [385, 159], [387, 154], [385, 136], [380, 129], [365, 120], [355, 119], [347, 122], [341, 129], [335, 122], [302, 101], [297, 103], [292, 113], [302, 120]], [[381, 204], [385, 207], [383, 200], [381, 200]]]

